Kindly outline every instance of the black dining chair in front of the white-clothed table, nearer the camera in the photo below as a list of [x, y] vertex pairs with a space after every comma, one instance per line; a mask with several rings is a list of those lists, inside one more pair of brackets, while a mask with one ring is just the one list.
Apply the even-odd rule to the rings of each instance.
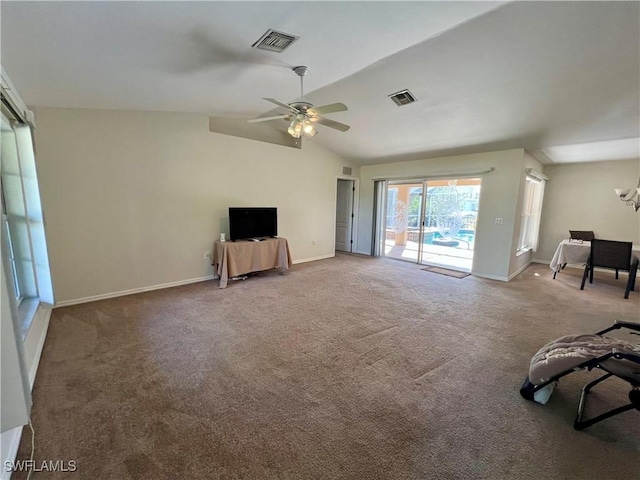
[[589, 276], [589, 283], [593, 283], [593, 271], [596, 267], [608, 268], [618, 272], [629, 272], [629, 279], [624, 292], [624, 298], [629, 298], [629, 292], [635, 290], [636, 272], [638, 271], [638, 260], [632, 259], [633, 244], [631, 242], [619, 242], [616, 240], [591, 240], [591, 252], [582, 275], [580, 290], [584, 290], [584, 284]]

